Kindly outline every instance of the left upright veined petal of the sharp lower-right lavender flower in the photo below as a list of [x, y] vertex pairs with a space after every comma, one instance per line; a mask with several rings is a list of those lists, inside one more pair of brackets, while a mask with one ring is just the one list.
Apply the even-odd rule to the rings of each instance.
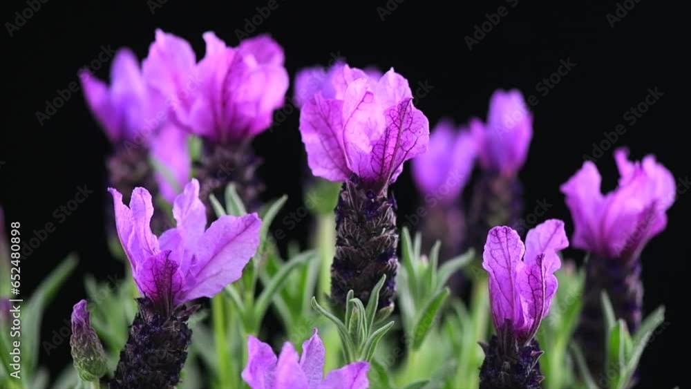
[[495, 328], [508, 320], [513, 328], [524, 326], [524, 309], [518, 293], [518, 274], [523, 270], [525, 248], [516, 231], [494, 227], [487, 234], [482, 267], [489, 273], [489, 297]]

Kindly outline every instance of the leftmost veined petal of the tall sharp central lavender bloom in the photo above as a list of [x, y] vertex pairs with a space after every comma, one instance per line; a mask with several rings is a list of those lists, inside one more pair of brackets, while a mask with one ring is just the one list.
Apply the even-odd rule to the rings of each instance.
[[317, 94], [300, 112], [300, 134], [307, 150], [312, 174], [331, 181], [345, 181], [350, 175], [341, 146], [343, 102]]

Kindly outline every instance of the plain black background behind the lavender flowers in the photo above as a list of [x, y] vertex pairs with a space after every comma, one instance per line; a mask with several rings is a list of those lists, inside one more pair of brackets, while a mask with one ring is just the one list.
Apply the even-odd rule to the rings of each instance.
[[[512, 3], [518, 3], [511, 8]], [[115, 2], [113, 2], [115, 3]], [[117, 2], [120, 3], [120, 2]], [[86, 185], [94, 193], [79, 205], [57, 231], [50, 234], [35, 252], [23, 261], [23, 292], [29, 292], [50, 269], [68, 254], [77, 252], [80, 265], [57, 301], [48, 308], [43, 323], [44, 336], [51, 336], [69, 317], [70, 307], [84, 297], [82, 276], [122, 275], [122, 265], [111, 258], [105, 241], [106, 196], [104, 156], [110, 145], [94, 122], [80, 92], [39, 125], [36, 113], [45, 111], [46, 100], [57, 97], [77, 81], [77, 70], [100, 53], [100, 46], [129, 46], [138, 57], [146, 56], [155, 28], [188, 39], [198, 57], [203, 55], [201, 34], [214, 30], [235, 46], [236, 29], [245, 18], [256, 15], [256, 6], [228, 6], [168, 1], [151, 12], [144, 1], [128, 6], [104, 1], [48, 1], [41, 4], [24, 26], [9, 37], [4, 35], [3, 129], [0, 141], [0, 202], [6, 209], [6, 223], [21, 222], [23, 234], [56, 222], [53, 211], [74, 198], [77, 187]], [[393, 1], [390, 1], [393, 4]], [[654, 153], [676, 178], [688, 175], [687, 150], [682, 142], [688, 131], [688, 108], [680, 109], [685, 76], [677, 44], [683, 23], [681, 13], [660, 3], [642, 0], [614, 24], [607, 13], [616, 12], [616, 1], [556, 2], [536, 4], [520, 0], [451, 2], [407, 0], [381, 20], [377, 7], [384, 0], [366, 6], [308, 5], [298, 1], [278, 1], [257, 32], [270, 32], [285, 48], [288, 72], [314, 64], [326, 64], [337, 53], [352, 66], [369, 65], [387, 69], [394, 66], [410, 81], [433, 86], [417, 106], [431, 123], [440, 117], [464, 122], [468, 117], [484, 117], [489, 96], [495, 88], [519, 88], [524, 95], [536, 95], [534, 136], [527, 164], [521, 172], [526, 188], [527, 209], [546, 199], [553, 207], [545, 217], [563, 218], [572, 231], [571, 218], [558, 187], [591, 153], [594, 142], [605, 139], [617, 124], [627, 132], [616, 146], [627, 145], [634, 158]], [[629, 5], [627, 3], [627, 5]], [[15, 23], [15, 11], [27, 7], [23, 1], [3, 1], [2, 21]], [[468, 50], [464, 42], [486, 14], [506, 6], [509, 13]], [[681, 18], [679, 18], [681, 19]], [[536, 84], [556, 72], [560, 59], [576, 66], [544, 97]], [[109, 64], [97, 71], [108, 77]], [[664, 95], [634, 126], [623, 119], [632, 106], [643, 102], [647, 88], [659, 88]], [[292, 89], [289, 91], [292, 94]], [[286, 211], [301, 205], [302, 185], [309, 177], [305, 152], [297, 129], [299, 114], [292, 113], [271, 133], [255, 141], [256, 151], [265, 158], [260, 173], [267, 182], [266, 198], [288, 193]], [[682, 137], [684, 136], [684, 137]], [[606, 190], [616, 183], [612, 149], [598, 160]], [[417, 193], [408, 169], [394, 186], [401, 210], [410, 214]], [[681, 379], [681, 282], [679, 264], [688, 259], [682, 240], [683, 216], [688, 216], [691, 200], [680, 195], [669, 212], [667, 231], [652, 240], [644, 252], [643, 278], [645, 307], [650, 312], [660, 304], [668, 306], [667, 329], [656, 336], [643, 356], [641, 386], [670, 388]], [[279, 216], [280, 222], [283, 215]], [[289, 237], [305, 242], [309, 222], [301, 222]], [[576, 258], [582, 253], [572, 250]], [[685, 265], [684, 265], [685, 266]], [[676, 346], [676, 347], [675, 347]], [[69, 363], [69, 348], [63, 343], [50, 357], [42, 357], [53, 371]]]

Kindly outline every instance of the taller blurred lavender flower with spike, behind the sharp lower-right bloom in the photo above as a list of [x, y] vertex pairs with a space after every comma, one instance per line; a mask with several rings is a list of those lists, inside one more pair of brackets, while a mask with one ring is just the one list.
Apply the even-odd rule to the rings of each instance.
[[533, 137], [533, 116], [519, 91], [495, 91], [487, 122], [472, 119], [482, 176], [473, 189], [470, 222], [473, 245], [480, 249], [496, 225], [518, 225], [523, 212], [518, 171]]

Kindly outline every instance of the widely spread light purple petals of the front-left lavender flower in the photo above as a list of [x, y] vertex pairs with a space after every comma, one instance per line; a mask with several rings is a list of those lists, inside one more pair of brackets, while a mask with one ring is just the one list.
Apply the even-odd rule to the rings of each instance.
[[199, 200], [199, 182], [191, 180], [173, 202], [177, 225], [160, 237], [151, 232], [151, 194], [135, 188], [130, 206], [108, 189], [115, 202], [117, 235], [141, 294], [178, 305], [211, 297], [236, 281], [259, 245], [261, 220], [256, 214], [222, 216], [208, 229]]

